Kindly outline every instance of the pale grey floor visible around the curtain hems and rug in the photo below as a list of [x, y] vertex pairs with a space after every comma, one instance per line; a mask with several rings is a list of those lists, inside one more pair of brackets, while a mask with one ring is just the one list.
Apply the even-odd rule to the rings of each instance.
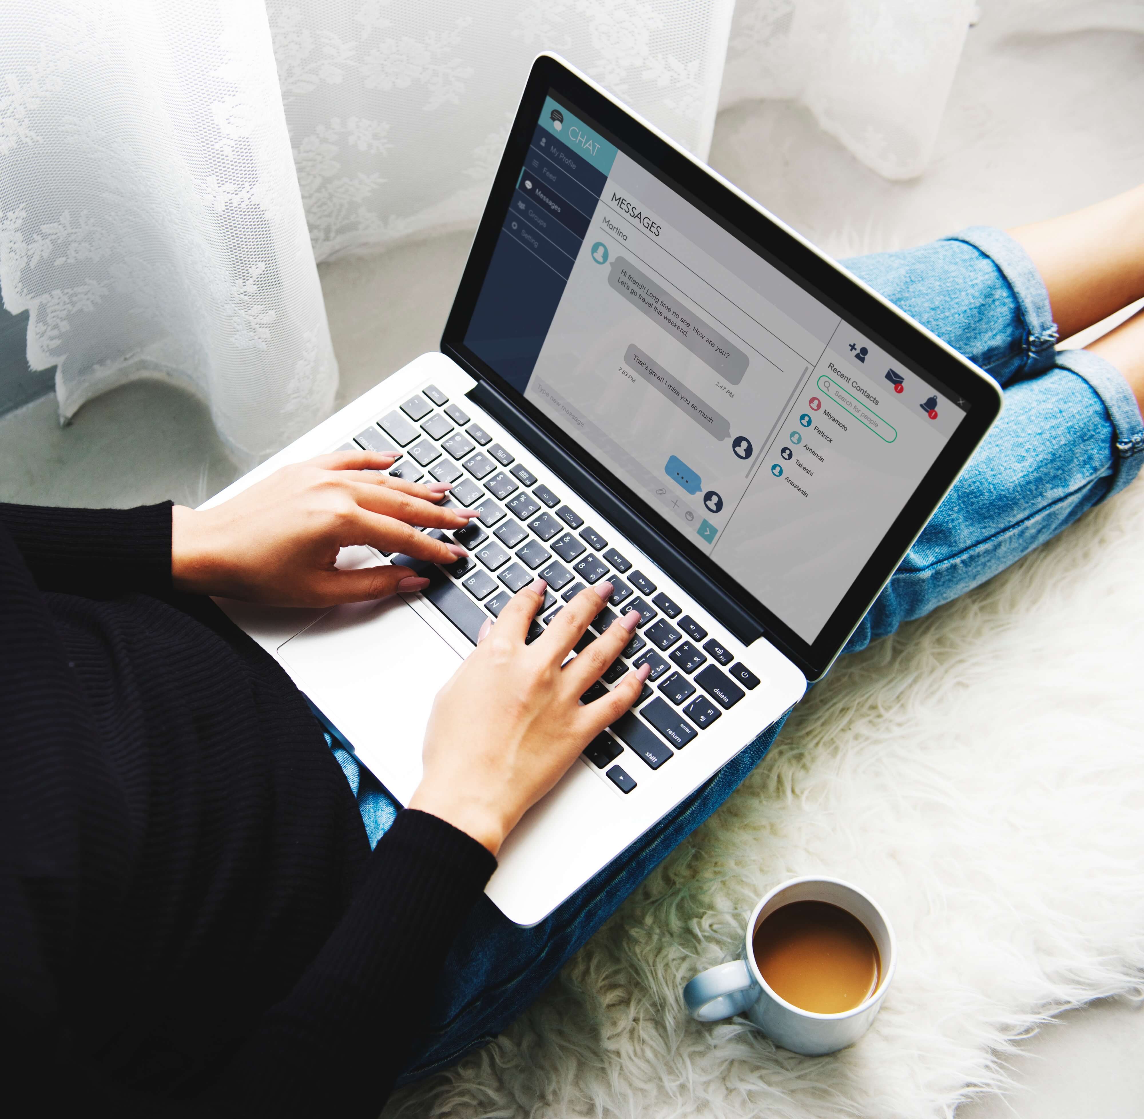
[[[1144, 181], [1144, 38], [1026, 33], [1019, 5], [982, 8], [920, 180], [880, 178], [787, 103], [723, 112], [710, 162], [837, 255], [1031, 221]], [[436, 348], [467, 251], [450, 235], [321, 267], [340, 403]], [[161, 381], [94, 400], [67, 428], [51, 397], [0, 418], [0, 500], [194, 505], [236, 473], [202, 405]], [[1144, 1119], [1144, 1013], [1128, 1001], [1062, 1015], [1010, 1063], [1020, 1090], [958, 1119]]]

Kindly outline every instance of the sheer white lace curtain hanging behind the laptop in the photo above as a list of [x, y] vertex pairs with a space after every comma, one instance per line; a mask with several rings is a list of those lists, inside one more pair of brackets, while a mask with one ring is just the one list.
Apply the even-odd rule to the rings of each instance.
[[722, 85], [802, 98], [904, 177], [968, 3], [741, 0], [732, 26], [733, 0], [6, 0], [0, 295], [63, 419], [167, 374], [255, 461], [333, 404], [316, 261], [472, 225], [538, 51], [700, 157]]

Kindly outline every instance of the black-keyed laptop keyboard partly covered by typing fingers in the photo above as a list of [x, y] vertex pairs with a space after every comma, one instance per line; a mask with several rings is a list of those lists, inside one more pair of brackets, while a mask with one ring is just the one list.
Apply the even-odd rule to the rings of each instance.
[[[428, 530], [436, 539], [452, 539], [464, 547], [469, 551], [464, 558], [437, 565], [390, 556], [392, 563], [429, 579], [422, 596], [472, 644], [485, 620], [495, 618], [537, 577], [547, 581], [548, 593], [529, 628], [527, 642], [545, 632], [564, 603], [603, 579], [611, 580], [612, 595], [577, 643], [577, 652], [620, 614], [639, 611], [631, 640], [582, 697], [590, 703], [606, 695], [629, 669], [651, 667], [631, 711], [583, 752], [621, 793], [630, 793], [758, 685], [758, 677], [709, 637], [699, 621], [683, 613], [652, 578], [633, 570], [622, 550], [577, 511], [574, 499], [565, 501], [563, 493], [540, 482], [527, 463], [494, 442], [436, 386], [427, 384], [353, 438], [366, 451], [402, 451], [404, 458], [389, 471], [394, 477], [450, 482], [453, 490], [446, 505], [480, 511], [452, 534]], [[625, 746], [642, 767], [628, 759]]]

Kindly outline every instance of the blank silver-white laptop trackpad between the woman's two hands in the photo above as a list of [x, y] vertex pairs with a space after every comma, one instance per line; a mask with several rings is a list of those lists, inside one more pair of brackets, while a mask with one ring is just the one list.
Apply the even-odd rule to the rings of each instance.
[[461, 662], [399, 597], [336, 606], [278, 649], [299, 688], [402, 803], [421, 780], [434, 697]]

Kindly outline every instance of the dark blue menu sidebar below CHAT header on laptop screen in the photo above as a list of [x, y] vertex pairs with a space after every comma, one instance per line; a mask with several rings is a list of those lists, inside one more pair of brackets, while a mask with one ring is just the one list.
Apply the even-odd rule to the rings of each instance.
[[553, 134], [555, 124], [566, 135], [593, 135], [566, 110], [559, 121], [537, 127], [464, 335], [466, 346], [522, 392], [607, 182], [588, 158], [599, 162], [591, 141], [581, 141], [586, 156]]

